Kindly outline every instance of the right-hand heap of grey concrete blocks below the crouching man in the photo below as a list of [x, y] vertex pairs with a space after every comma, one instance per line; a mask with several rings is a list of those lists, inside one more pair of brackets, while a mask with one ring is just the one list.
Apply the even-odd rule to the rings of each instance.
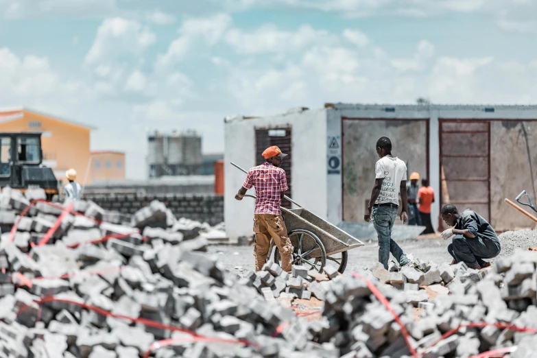
[[[458, 264], [450, 267], [453, 274], [449, 272], [451, 277], [447, 280], [442, 269], [431, 265], [427, 272], [438, 270], [440, 274], [434, 274], [435, 281], [439, 281], [436, 285], [442, 285], [446, 279], [450, 294], [437, 296], [418, 311], [415, 302], [409, 299], [415, 295], [409, 285], [419, 287], [420, 280], [427, 280], [427, 272], [414, 275], [403, 267], [397, 272], [403, 273], [403, 281], [405, 278], [414, 281], [404, 282], [403, 289], [386, 284], [395, 280], [394, 272], [386, 274], [374, 267], [360, 274], [387, 298], [405, 326], [411, 346], [424, 358], [470, 357], [510, 346], [518, 348], [505, 357], [529, 358], [534, 357], [537, 342], [536, 265], [537, 252], [522, 250], [512, 257], [498, 259], [486, 276], [481, 274], [486, 270], [476, 274], [464, 264]], [[339, 276], [326, 283], [325, 288], [322, 320], [318, 322], [322, 329], [315, 335], [317, 342], [331, 342], [346, 358], [411, 357], [394, 314], [372, 294], [366, 281]], [[483, 326], [464, 327], [470, 323]], [[494, 324], [514, 325], [529, 331], [503, 329]], [[461, 326], [453, 335], [441, 339], [444, 333]]]

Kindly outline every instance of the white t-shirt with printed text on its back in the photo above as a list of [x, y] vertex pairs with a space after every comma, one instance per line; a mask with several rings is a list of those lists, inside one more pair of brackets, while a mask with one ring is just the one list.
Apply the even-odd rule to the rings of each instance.
[[382, 182], [381, 193], [375, 204], [399, 204], [399, 190], [401, 189], [401, 180], [407, 180], [407, 165], [403, 160], [393, 157], [384, 156], [377, 161], [374, 166], [375, 178], [384, 179]]

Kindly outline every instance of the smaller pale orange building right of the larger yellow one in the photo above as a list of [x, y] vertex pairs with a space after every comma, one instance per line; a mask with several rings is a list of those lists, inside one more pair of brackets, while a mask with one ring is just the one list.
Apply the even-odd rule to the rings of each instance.
[[92, 182], [125, 179], [125, 153], [107, 150], [91, 152]]

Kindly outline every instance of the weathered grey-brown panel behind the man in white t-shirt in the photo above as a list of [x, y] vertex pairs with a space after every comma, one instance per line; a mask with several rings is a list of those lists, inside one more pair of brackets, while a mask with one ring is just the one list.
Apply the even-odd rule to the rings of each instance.
[[379, 160], [375, 145], [381, 136], [391, 139], [392, 153], [406, 163], [407, 175], [418, 171], [427, 178], [426, 120], [344, 119], [342, 128], [344, 221], [363, 222]]

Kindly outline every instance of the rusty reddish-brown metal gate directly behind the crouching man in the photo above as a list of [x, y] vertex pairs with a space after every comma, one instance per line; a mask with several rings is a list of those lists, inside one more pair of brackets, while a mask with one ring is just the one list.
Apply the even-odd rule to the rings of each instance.
[[490, 121], [440, 119], [440, 208], [445, 204], [490, 221]]

